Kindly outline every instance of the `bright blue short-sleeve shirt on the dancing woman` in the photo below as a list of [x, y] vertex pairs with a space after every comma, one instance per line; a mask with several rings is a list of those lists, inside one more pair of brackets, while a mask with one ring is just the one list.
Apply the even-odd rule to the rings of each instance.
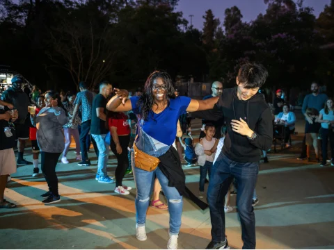
[[[139, 107], [137, 106], [140, 97], [131, 97], [132, 110], [136, 115], [140, 115]], [[186, 113], [191, 99], [189, 97], [176, 97], [170, 99], [169, 106], [159, 114], [150, 111], [153, 114], [148, 116], [148, 121], [143, 122], [143, 131], [150, 135], [155, 140], [166, 145], [173, 144], [177, 130], [177, 120], [180, 115]]]

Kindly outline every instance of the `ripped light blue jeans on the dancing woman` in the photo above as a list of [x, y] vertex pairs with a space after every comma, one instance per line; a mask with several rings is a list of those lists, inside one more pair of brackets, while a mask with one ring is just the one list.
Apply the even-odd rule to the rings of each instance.
[[161, 172], [159, 167], [152, 172], [133, 166], [134, 181], [136, 183], [136, 222], [138, 226], [145, 226], [146, 213], [150, 204], [150, 197], [154, 187], [155, 176], [159, 179], [160, 185], [168, 200], [169, 210], [169, 232], [171, 235], [178, 235], [181, 227], [181, 216], [183, 208], [182, 196], [176, 188], [168, 187], [168, 178]]

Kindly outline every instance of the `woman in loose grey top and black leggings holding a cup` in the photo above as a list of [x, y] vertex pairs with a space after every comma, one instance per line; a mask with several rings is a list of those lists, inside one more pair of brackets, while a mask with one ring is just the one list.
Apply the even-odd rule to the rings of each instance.
[[[33, 113], [33, 109], [29, 109]], [[49, 90], [45, 94], [45, 108], [38, 115], [31, 114], [31, 123], [37, 128], [37, 142], [41, 151], [41, 169], [49, 191], [42, 194], [45, 204], [61, 201], [58, 193], [56, 165], [65, 148], [63, 126], [68, 122], [67, 110], [58, 92]]]

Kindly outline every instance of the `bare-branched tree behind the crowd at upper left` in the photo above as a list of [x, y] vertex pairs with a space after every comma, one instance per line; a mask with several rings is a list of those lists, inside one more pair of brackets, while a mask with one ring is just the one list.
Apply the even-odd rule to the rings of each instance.
[[101, 3], [75, 3], [70, 12], [66, 10], [67, 15], [60, 13], [65, 18], [51, 27], [47, 55], [54, 65], [48, 68], [61, 67], [70, 72], [77, 88], [80, 81], [93, 88], [111, 74], [116, 63], [119, 47], [113, 33], [114, 17], [111, 10], [99, 10]]

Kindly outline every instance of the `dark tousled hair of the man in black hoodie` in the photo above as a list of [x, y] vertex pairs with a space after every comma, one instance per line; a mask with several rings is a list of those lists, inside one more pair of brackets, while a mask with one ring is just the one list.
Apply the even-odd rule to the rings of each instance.
[[261, 88], [267, 80], [267, 69], [257, 63], [246, 63], [242, 65], [238, 73], [239, 84], [244, 88]]

